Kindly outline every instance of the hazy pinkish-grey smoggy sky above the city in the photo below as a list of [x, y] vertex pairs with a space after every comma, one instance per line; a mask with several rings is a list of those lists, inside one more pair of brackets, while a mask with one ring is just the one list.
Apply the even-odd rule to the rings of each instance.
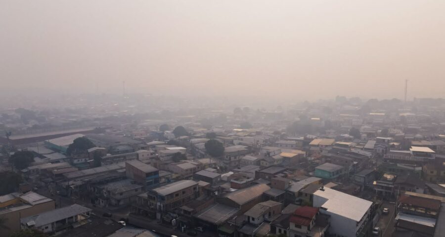
[[445, 97], [444, 0], [0, 0], [1, 89]]

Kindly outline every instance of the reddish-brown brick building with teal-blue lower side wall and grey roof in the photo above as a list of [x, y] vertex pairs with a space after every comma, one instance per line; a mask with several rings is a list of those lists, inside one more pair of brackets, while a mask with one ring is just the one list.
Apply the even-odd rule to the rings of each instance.
[[159, 170], [139, 160], [125, 162], [125, 172], [127, 178], [143, 185], [145, 189], [159, 185]]

